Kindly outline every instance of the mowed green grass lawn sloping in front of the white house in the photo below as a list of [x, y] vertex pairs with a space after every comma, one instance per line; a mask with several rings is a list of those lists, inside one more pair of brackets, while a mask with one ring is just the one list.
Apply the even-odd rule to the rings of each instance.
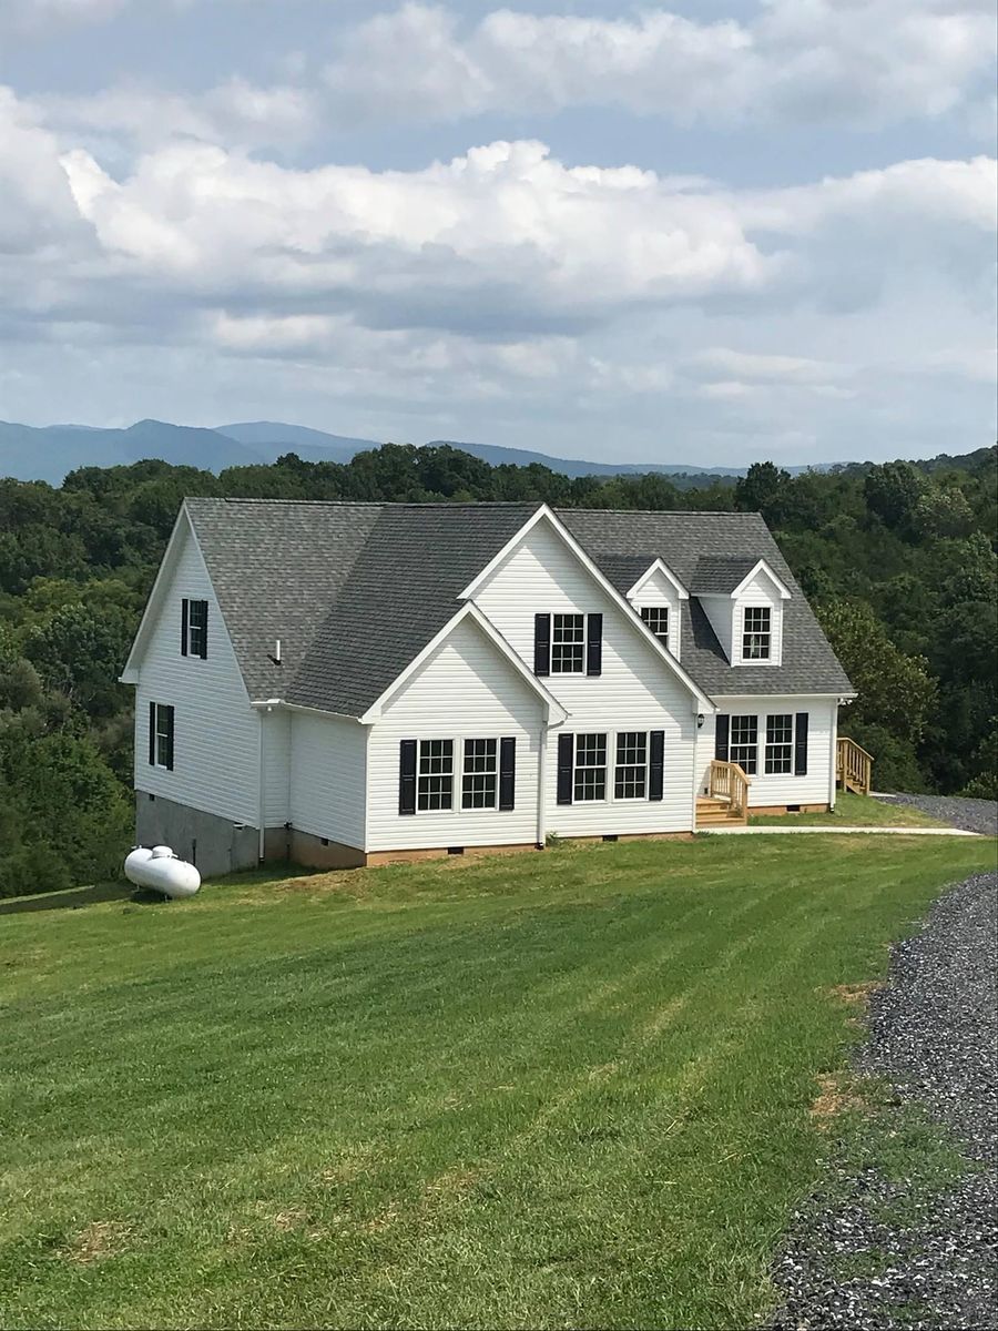
[[993, 857], [564, 845], [4, 916], [0, 1326], [750, 1324], [860, 1034], [832, 986]]

